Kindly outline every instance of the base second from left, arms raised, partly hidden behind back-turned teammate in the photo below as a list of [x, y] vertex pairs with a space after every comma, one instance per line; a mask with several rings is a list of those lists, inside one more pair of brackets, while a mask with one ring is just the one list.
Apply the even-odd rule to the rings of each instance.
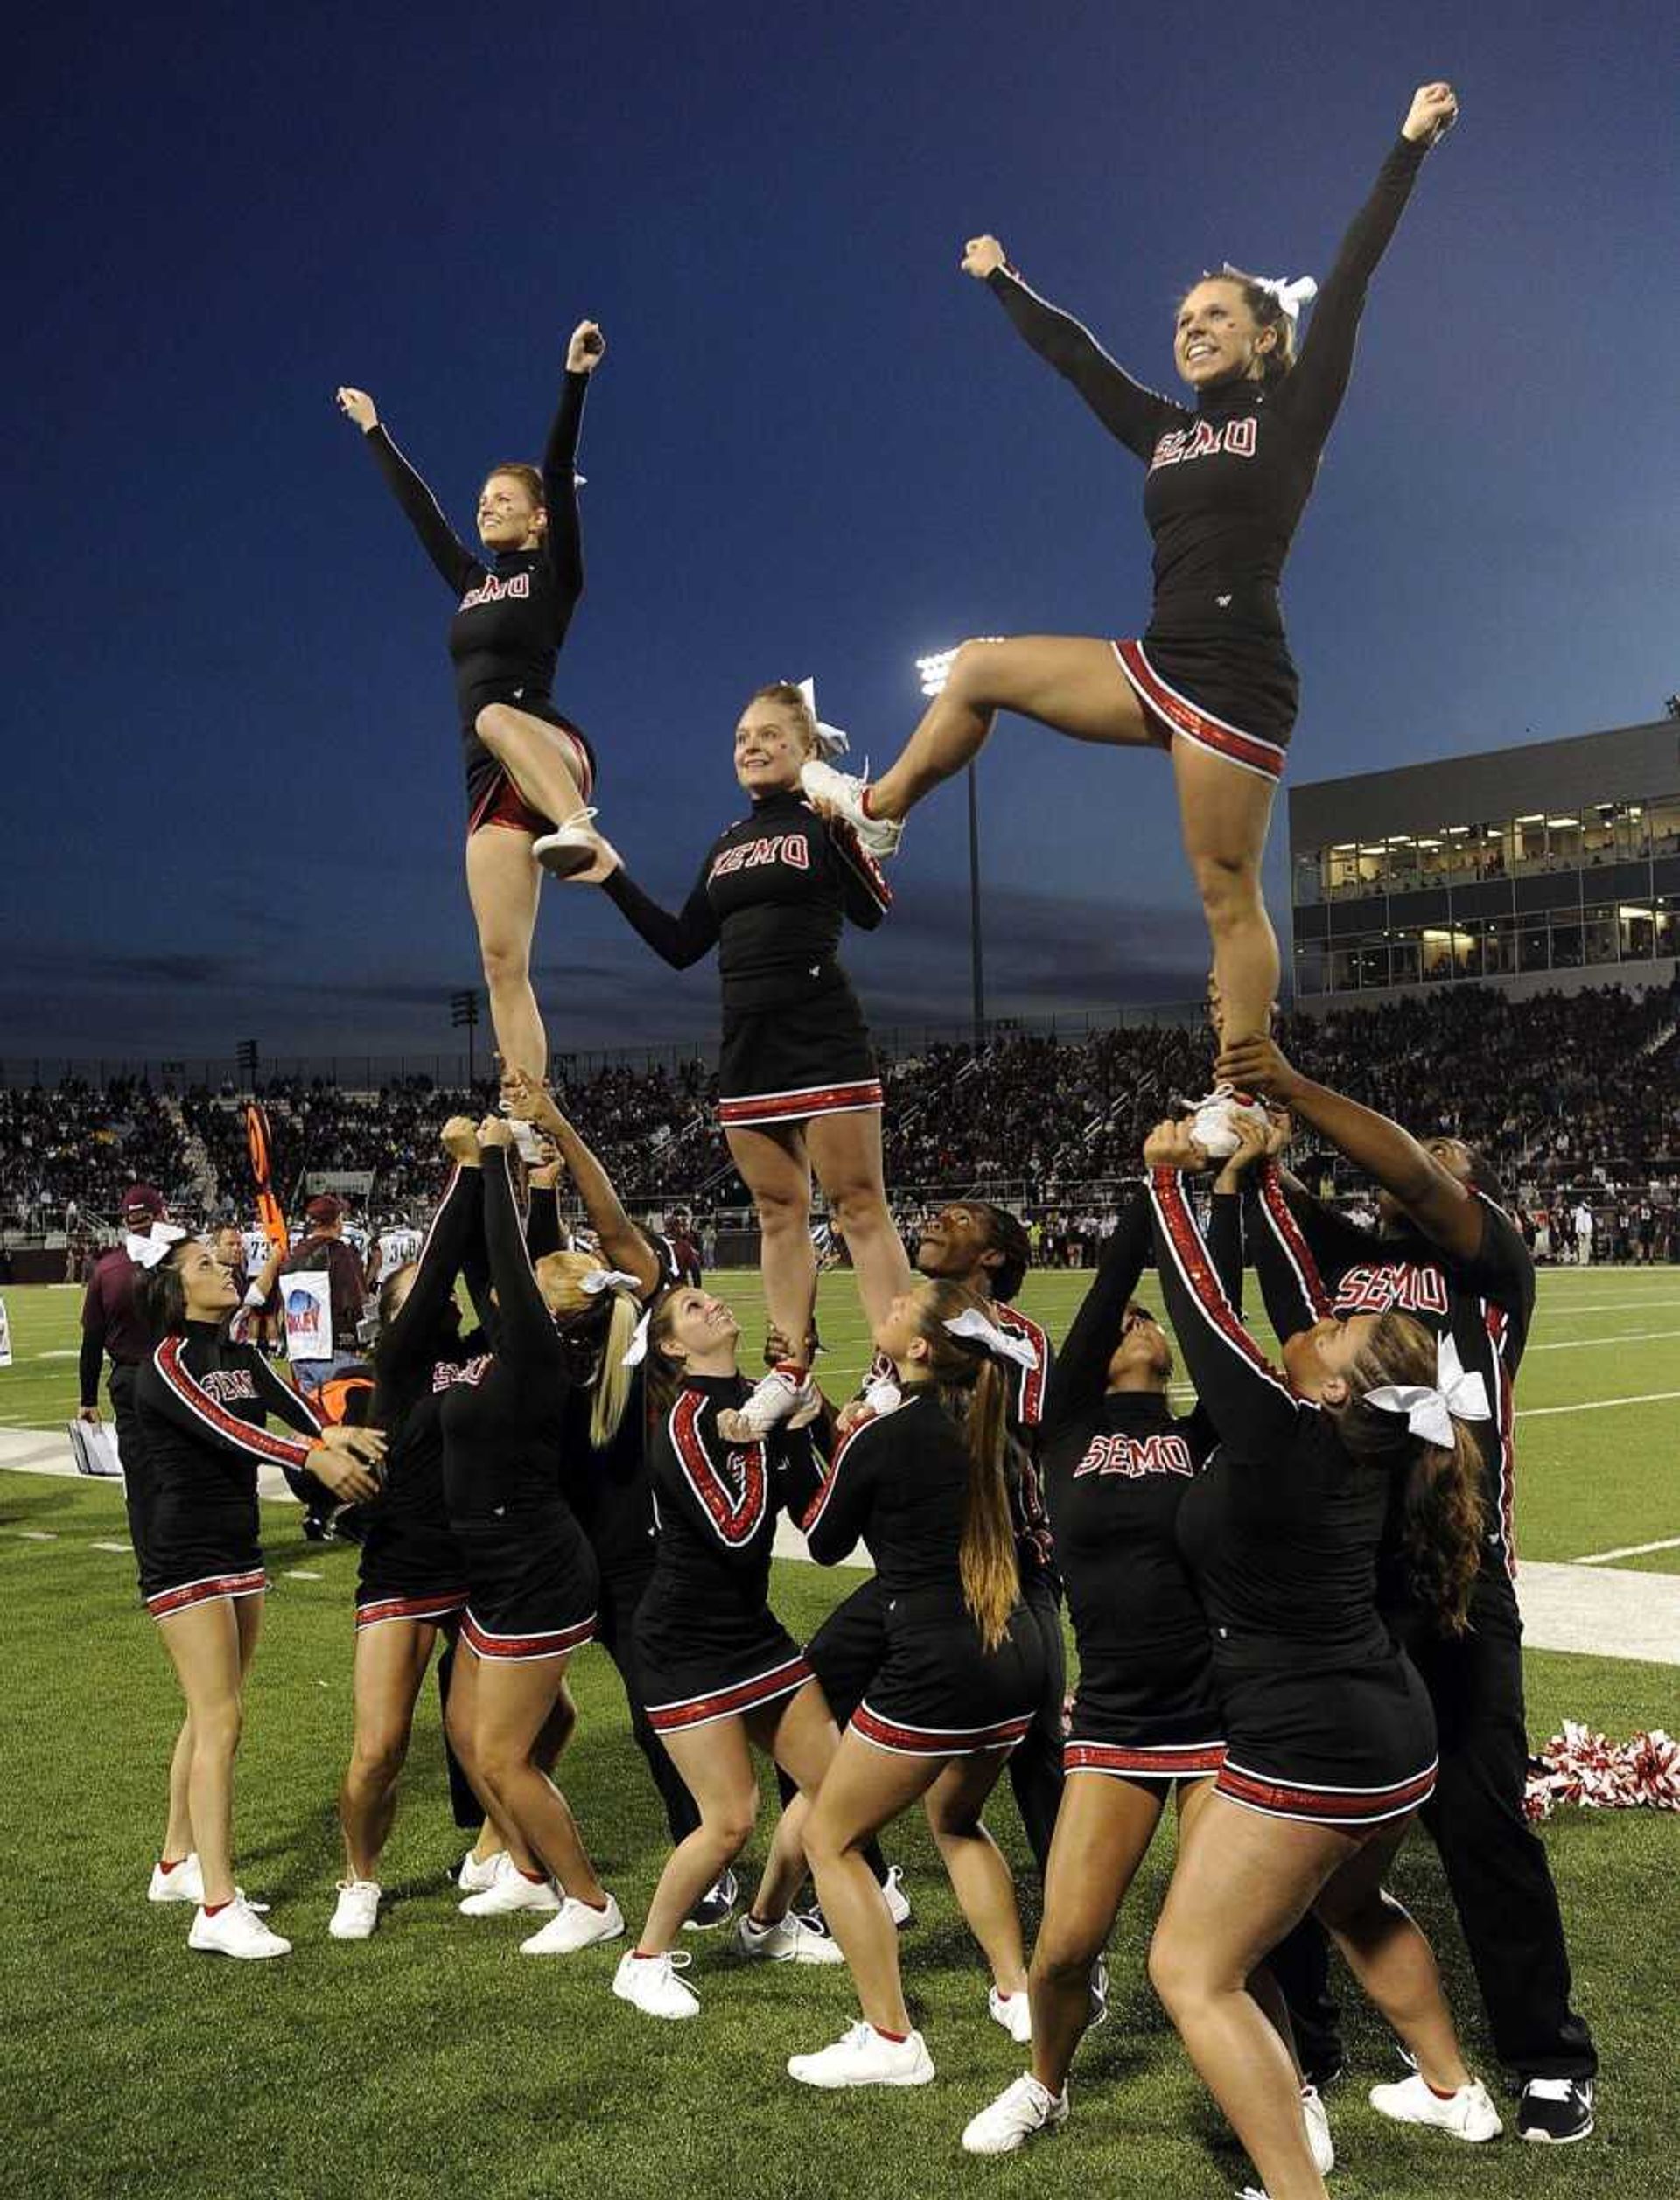
[[443, 1151], [456, 1168], [418, 1258], [379, 1289], [372, 1419], [388, 1452], [357, 1569], [354, 1742], [339, 1789], [346, 1877], [328, 1925], [335, 1940], [366, 1940], [379, 1921], [379, 1857], [414, 1705], [438, 1630], [454, 1637], [467, 1608], [467, 1562], [443, 1494], [443, 1401], [489, 1351], [482, 1329], [462, 1335], [456, 1302], [462, 1261], [484, 1230], [478, 1135], [465, 1115], [443, 1126]]

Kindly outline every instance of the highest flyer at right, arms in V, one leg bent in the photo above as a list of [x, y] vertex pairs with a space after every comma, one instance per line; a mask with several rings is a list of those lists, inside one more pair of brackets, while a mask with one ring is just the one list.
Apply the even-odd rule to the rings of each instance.
[[1141, 642], [964, 642], [945, 693], [883, 779], [865, 785], [821, 763], [804, 772], [806, 792], [883, 856], [914, 803], [980, 750], [997, 711], [1077, 741], [1167, 748], [1233, 1038], [1266, 1030], [1277, 992], [1259, 867], [1299, 693], [1277, 583], [1348, 389], [1372, 273], [1425, 154], [1455, 117], [1451, 86], [1414, 95], [1299, 359], [1295, 330], [1312, 282], [1224, 266], [1193, 284], [1174, 323], [1174, 365], [1193, 409], [1116, 367], [1090, 330], [1022, 282], [997, 238], [969, 240], [962, 271], [993, 290], [1026, 343], [1149, 469], [1154, 614]]

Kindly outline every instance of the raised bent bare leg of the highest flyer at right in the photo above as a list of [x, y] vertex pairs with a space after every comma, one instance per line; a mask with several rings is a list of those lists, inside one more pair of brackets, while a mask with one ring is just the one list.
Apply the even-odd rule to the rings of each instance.
[[870, 812], [901, 818], [980, 755], [997, 711], [1035, 717], [1074, 741], [1141, 748], [1154, 739], [1112, 642], [1019, 634], [964, 642], [903, 755], [870, 788]]

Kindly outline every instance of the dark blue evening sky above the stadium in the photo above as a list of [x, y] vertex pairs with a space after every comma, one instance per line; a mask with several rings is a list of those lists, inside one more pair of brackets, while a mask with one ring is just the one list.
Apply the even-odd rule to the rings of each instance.
[[[892, 7], [62, 7], [13, 64], [0, 1052], [447, 1045], [476, 979], [449, 598], [332, 409], [374, 392], [467, 532], [566, 332], [590, 587], [557, 700], [656, 891], [738, 812], [749, 689], [887, 757], [969, 631], [1134, 634], [1141, 471], [956, 273], [991, 229], [1169, 385], [1178, 288], [1323, 273], [1451, 77], [1290, 563], [1301, 779], [1647, 719], [1680, 684], [1673, 15]], [[991, 1005], [1196, 990], [1156, 757], [1004, 724]], [[1275, 849], [1281, 854], [1281, 807]], [[852, 966], [967, 1010], [964, 807]], [[1275, 902], [1284, 871], [1273, 865]], [[711, 1034], [550, 889], [557, 1045]]]

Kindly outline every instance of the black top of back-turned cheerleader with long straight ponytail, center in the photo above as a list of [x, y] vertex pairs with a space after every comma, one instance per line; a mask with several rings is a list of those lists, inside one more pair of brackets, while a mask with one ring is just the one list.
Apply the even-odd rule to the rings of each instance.
[[962, 1595], [962, 1514], [969, 1441], [929, 1386], [861, 1421], [841, 1439], [828, 1478], [801, 1522], [819, 1566], [837, 1566], [863, 1542], [892, 1597]]

